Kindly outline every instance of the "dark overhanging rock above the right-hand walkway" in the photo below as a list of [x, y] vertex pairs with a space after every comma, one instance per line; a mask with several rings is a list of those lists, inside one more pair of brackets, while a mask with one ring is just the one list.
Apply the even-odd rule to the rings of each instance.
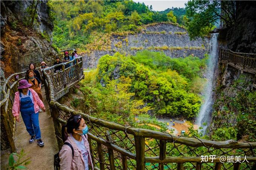
[[237, 1], [235, 26], [221, 29], [219, 41], [223, 47], [242, 53], [256, 53], [256, 2]]

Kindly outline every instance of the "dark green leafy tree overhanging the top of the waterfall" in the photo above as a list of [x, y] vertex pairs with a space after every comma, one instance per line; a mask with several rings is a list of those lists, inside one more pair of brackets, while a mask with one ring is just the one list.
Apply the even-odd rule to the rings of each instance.
[[191, 0], [187, 2], [187, 17], [193, 18], [187, 24], [190, 38], [204, 37], [219, 21], [222, 21], [226, 27], [232, 27], [237, 18], [236, 7], [235, 1]]

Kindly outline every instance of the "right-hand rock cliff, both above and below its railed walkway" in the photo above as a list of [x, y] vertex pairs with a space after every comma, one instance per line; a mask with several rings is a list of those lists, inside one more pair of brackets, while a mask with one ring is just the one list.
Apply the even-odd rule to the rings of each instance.
[[[256, 53], [256, 3], [237, 1], [237, 5], [235, 26], [220, 30], [219, 45], [236, 52]], [[256, 107], [255, 74], [242, 73], [223, 63], [219, 63], [218, 72], [210, 134], [218, 128], [233, 127], [238, 140], [255, 141], [256, 114], [251, 110]]]

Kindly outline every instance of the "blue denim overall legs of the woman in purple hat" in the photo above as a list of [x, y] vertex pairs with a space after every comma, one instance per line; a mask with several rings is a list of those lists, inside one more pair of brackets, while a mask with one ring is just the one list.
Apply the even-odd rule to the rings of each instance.
[[41, 139], [41, 131], [39, 127], [39, 113], [21, 113], [21, 117], [30, 136], [36, 136], [36, 139]]

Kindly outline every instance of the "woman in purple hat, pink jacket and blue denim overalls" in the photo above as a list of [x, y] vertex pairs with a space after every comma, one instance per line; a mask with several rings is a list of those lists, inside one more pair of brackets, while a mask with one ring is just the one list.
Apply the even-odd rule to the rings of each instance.
[[14, 103], [12, 106], [12, 114], [17, 122], [20, 122], [20, 116], [24, 121], [27, 132], [31, 136], [29, 143], [33, 143], [37, 139], [39, 146], [44, 146], [41, 140], [41, 131], [39, 126], [39, 107], [45, 111], [43, 102], [40, 100], [37, 92], [30, 89], [31, 84], [27, 80], [19, 81], [18, 92], [15, 93]]

